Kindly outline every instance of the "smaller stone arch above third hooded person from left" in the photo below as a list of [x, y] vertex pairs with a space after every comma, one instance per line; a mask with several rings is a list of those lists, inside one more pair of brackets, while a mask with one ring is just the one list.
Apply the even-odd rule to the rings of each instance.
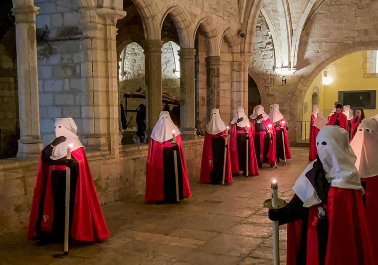
[[207, 37], [207, 56], [219, 56], [218, 30], [209, 17], [203, 17], [198, 20], [193, 33], [193, 39], [200, 25]]

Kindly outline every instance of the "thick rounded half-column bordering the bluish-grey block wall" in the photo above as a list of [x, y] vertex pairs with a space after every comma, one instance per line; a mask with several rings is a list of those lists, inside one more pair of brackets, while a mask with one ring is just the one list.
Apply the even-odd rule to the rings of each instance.
[[[87, 15], [84, 19], [89, 20]], [[105, 26], [99, 22], [80, 25], [83, 32], [81, 47], [82, 135], [87, 150], [110, 150], [108, 126], [110, 111], [109, 89], [106, 82]]]

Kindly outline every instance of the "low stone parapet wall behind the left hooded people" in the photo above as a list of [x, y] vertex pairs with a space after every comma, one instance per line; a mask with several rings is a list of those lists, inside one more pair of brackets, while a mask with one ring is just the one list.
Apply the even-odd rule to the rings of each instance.
[[[184, 141], [190, 183], [197, 182], [203, 139]], [[144, 196], [147, 145], [129, 145], [120, 157], [88, 152], [101, 204]], [[29, 220], [37, 162], [0, 160], [0, 235], [24, 229]]]

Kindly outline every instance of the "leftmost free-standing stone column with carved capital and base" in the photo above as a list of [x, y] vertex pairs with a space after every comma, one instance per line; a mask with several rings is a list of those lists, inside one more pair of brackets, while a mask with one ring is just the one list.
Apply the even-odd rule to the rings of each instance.
[[20, 139], [17, 157], [37, 155], [43, 148], [39, 132], [39, 97], [35, 15], [33, 0], [13, 0], [16, 25], [18, 109]]

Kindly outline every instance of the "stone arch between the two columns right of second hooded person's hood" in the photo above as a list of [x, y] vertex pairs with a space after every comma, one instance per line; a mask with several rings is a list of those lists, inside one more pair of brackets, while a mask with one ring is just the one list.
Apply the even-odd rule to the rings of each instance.
[[194, 48], [194, 38], [190, 34], [190, 23], [185, 12], [179, 6], [169, 7], [160, 19], [160, 31], [162, 31], [164, 20], [171, 15], [179, 33], [180, 46], [183, 49]]

